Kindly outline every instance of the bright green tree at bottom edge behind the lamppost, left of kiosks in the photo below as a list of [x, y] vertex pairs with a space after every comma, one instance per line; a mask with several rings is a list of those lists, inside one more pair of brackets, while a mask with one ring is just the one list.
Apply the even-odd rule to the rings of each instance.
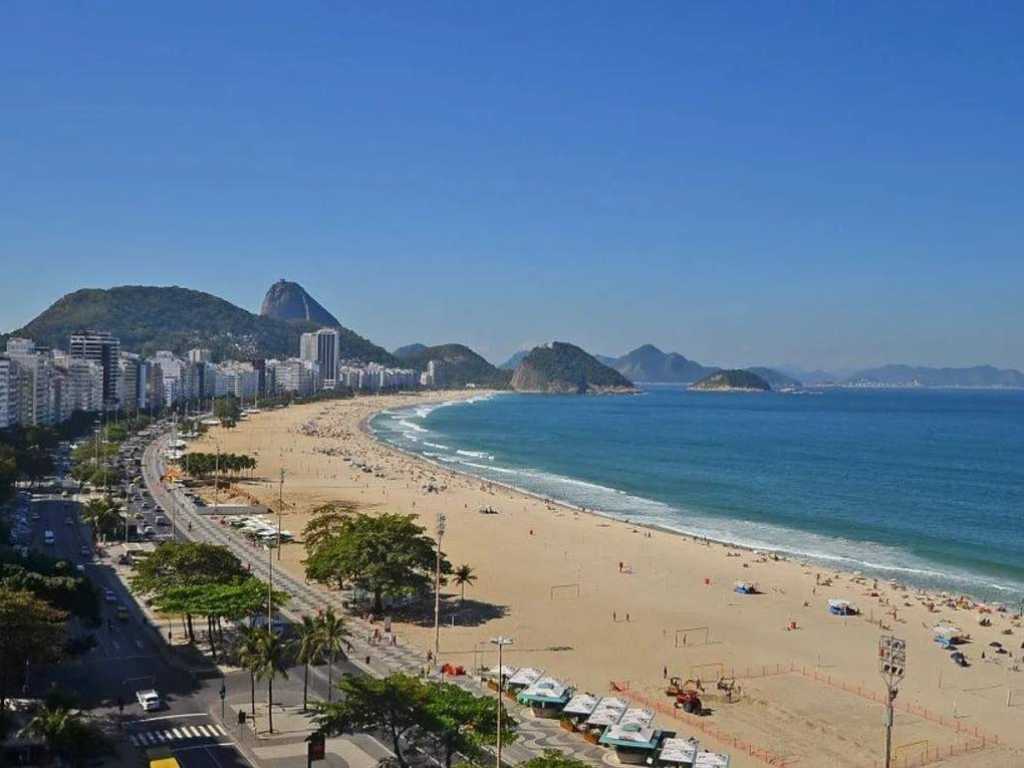
[[[497, 743], [497, 699], [473, 695], [451, 683], [431, 683], [427, 694], [422, 728], [437, 739], [445, 768], [452, 767], [456, 754], [475, 759], [484, 746]], [[510, 743], [515, 736], [516, 721], [503, 708], [502, 743]]]

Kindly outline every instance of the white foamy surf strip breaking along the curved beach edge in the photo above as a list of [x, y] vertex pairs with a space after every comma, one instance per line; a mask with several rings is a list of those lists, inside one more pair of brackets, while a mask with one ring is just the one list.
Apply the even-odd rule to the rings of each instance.
[[[500, 396], [506, 394], [501, 390], [489, 391], [483, 394], [483, 398], [490, 399], [495, 396]], [[466, 404], [473, 400], [474, 397], [479, 397], [479, 394], [470, 395], [468, 397], [457, 397], [454, 399], [442, 399], [433, 406], [431, 410], [441, 407], [450, 407], [456, 404]], [[404, 407], [401, 410], [415, 410], [417, 407], [410, 406]], [[703, 544], [714, 544], [719, 545], [728, 549], [755, 553], [755, 554], [767, 554], [774, 559], [781, 561], [794, 561], [802, 564], [815, 563], [820, 567], [827, 568], [831, 572], [841, 575], [843, 578], [856, 577], [861, 574], [863, 571], [871, 573], [876, 578], [888, 581], [891, 585], [906, 588], [914, 591], [915, 593], [923, 595], [934, 596], [937, 600], [947, 597], [949, 595], [962, 595], [976, 600], [980, 603], [1014, 603], [1021, 597], [1024, 597], [1024, 587], [1017, 585], [999, 584], [994, 581], [988, 581], [982, 583], [985, 579], [983, 575], [972, 574], [970, 572], [951, 572], [950, 570], [940, 570], [939, 566], [936, 564], [935, 567], [911, 567], [899, 564], [891, 563], [877, 563], [867, 559], [868, 555], [863, 555], [863, 559], [855, 559], [849, 555], [843, 554], [831, 554], [825, 552], [817, 551], [805, 551], [797, 548], [786, 548], [777, 545], [772, 545], [769, 543], [760, 543], [757, 545], [752, 545], [746, 542], [740, 541], [730, 541], [728, 538], [724, 538], [721, 535], [718, 536], [708, 536], [697, 530], [686, 529], [685, 527], [679, 525], [671, 525], [659, 522], [652, 522], [647, 520], [637, 520], [628, 516], [622, 516], [609, 511], [601, 510], [597, 507], [588, 507], [581, 504], [575, 504], [567, 499], [560, 499], [550, 494], [543, 494], [537, 490], [531, 490], [527, 487], [522, 487], [520, 485], [513, 484], [512, 482], [502, 481], [486, 477], [482, 474], [477, 474], [471, 470], [472, 464], [467, 464], [466, 462], [460, 463], [449, 463], [437, 461], [430, 456], [424, 456], [423, 453], [416, 451], [407, 450], [400, 445], [391, 442], [386, 439], [382, 434], [376, 431], [373, 427], [373, 422], [377, 418], [385, 415], [389, 409], [381, 409], [370, 414], [359, 422], [359, 430], [367, 436], [375, 440], [379, 445], [389, 450], [394, 451], [397, 454], [412, 459], [418, 462], [422, 462], [430, 467], [433, 467], [440, 472], [451, 472], [453, 474], [460, 475], [462, 477], [471, 479], [476, 482], [483, 483], [487, 486], [494, 488], [501, 488], [508, 492], [514, 496], [520, 496], [534, 501], [541, 501], [546, 505], [551, 507], [560, 508], [562, 510], [571, 511], [574, 513], [583, 513], [591, 515], [603, 520], [610, 520], [615, 523], [629, 525], [634, 528], [640, 528], [644, 530], [658, 531], [663, 534], [669, 534], [676, 537], [681, 537], [683, 539], [688, 539], [693, 542], [703, 543]], [[424, 416], [425, 418], [425, 416]], [[447, 438], [451, 440], [451, 438]], [[458, 452], [463, 453], [463, 452]], [[503, 471], [498, 467], [487, 467], [492, 471]], [[513, 472], [515, 470], [505, 470]], [[557, 475], [561, 481], [569, 483], [582, 483], [595, 487], [602, 487], [606, 490], [613, 492], [616, 494], [629, 495], [628, 492], [621, 490], [618, 488], [611, 488], [607, 486], [601, 486], [597, 483], [593, 483], [589, 480], [583, 480], [580, 478], [573, 478], [568, 476]], [[651, 501], [651, 500], [644, 500]], [[658, 502], [659, 503], [659, 502]], [[821, 536], [821, 535], [816, 535]], [[849, 540], [848, 540], [849, 541]], [[859, 542], [853, 542], [854, 545], [860, 544]], [[922, 584], [926, 580], [933, 581], [945, 581], [953, 582], [958, 584], [964, 584], [965, 588], [942, 588], [937, 585]], [[993, 599], [991, 595], [984, 596], [979, 595], [977, 590], [990, 590], [999, 595], [1006, 595], [1004, 600]]]

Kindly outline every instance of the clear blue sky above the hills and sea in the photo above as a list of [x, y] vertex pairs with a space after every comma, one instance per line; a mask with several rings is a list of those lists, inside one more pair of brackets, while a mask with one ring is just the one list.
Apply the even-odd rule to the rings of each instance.
[[1019, 3], [0, 16], [0, 329], [284, 276], [389, 347], [1024, 368]]

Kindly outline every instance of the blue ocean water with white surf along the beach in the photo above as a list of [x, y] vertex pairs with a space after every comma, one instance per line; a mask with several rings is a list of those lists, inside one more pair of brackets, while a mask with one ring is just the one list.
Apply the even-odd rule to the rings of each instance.
[[500, 394], [385, 412], [379, 437], [621, 519], [1016, 603], [1024, 392]]

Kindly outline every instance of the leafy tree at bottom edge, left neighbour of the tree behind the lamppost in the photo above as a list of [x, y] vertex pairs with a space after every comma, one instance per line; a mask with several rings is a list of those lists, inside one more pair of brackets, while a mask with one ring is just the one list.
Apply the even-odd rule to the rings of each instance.
[[399, 768], [409, 768], [401, 751], [402, 737], [426, 719], [427, 686], [409, 675], [379, 680], [369, 675], [350, 676], [338, 683], [338, 701], [315, 705], [313, 721], [328, 734], [352, 730], [385, 731]]

